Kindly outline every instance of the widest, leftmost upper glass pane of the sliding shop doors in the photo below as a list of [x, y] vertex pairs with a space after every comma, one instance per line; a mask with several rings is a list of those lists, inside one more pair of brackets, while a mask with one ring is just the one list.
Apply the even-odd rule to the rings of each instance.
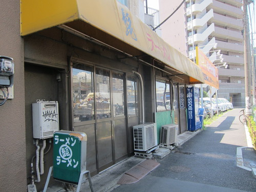
[[74, 122], [94, 120], [93, 68], [74, 66], [72, 87]]

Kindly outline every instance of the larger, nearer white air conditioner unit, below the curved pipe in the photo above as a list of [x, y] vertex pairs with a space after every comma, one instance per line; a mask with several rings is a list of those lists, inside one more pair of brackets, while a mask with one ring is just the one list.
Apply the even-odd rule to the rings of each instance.
[[144, 123], [133, 126], [134, 150], [147, 151], [157, 145], [156, 123]]

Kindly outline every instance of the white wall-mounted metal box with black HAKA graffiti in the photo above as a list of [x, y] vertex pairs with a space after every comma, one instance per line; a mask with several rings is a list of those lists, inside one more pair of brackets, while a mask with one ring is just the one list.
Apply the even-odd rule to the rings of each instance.
[[47, 139], [59, 131], [58, 101], [32, 103], [33, 137]]

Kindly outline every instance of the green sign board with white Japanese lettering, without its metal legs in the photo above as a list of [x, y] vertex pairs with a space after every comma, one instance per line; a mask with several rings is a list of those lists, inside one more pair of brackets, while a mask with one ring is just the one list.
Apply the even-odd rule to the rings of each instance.
[[82, 132], [57, 131], [53, 138], [53, 178], [78, 184], [86, 170], [87, 135]]

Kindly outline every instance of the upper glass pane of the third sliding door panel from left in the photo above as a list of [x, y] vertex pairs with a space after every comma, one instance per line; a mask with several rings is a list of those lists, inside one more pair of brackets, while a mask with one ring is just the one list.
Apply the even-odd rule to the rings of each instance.
[[123, 74], [113, 73], [112, 78], [114, 116], [124, 115]]

